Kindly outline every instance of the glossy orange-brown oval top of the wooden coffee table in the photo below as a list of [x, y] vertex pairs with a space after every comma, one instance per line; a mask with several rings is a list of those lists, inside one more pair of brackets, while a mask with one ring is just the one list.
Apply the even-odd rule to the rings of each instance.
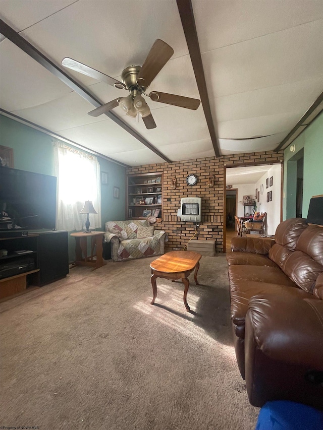
[[201, 257], [194, 251], [172, 251], [151, 262], [150, 268], [164, 273], [186, 272], [193, 270]]

